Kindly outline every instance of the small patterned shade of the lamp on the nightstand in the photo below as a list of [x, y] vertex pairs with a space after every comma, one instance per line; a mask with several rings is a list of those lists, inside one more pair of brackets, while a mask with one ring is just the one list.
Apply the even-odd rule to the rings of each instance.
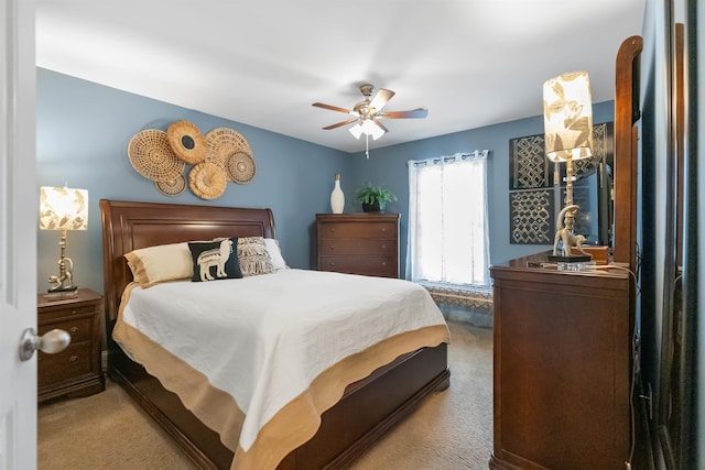
[[86, 230], [88, 192], [68, 187], [42, 186], [40, 189], [40, 229]]

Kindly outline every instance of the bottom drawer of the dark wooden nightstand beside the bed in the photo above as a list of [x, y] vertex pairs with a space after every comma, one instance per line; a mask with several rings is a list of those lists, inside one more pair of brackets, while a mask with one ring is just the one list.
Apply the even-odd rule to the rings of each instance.
[[72, 381], [77, 376], [93, 372], [93, 354], [90, 342], [69, 345], [56, 354], [45, 354], [37, 351], [39, 387]]

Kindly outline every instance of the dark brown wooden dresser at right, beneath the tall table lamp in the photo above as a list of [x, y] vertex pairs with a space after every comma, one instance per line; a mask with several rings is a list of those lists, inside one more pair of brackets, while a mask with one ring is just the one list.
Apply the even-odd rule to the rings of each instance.
[[[623, 469], [630, 453], [627, 271], [490, 267], [495, 438], [490, 469]], [[545, 256], [543, 256], [543, 261]]]

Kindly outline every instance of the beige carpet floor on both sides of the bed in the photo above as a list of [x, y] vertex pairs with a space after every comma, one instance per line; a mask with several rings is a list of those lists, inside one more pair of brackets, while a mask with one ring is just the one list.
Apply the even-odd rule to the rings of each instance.
[[[351, 470], [487, 469], [492, 447], [492, 330], [448, 321], [451, 386], [425, 400]], [[120, 386], [39, 408], [40, 470], [193, 469]]]

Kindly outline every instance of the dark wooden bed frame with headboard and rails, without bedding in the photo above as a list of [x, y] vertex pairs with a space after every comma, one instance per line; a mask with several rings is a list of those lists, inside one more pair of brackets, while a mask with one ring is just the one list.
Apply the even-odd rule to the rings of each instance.
[[[108, 199], [100, 200], [100, 210], [109, 376], [172, 436], [198, 468], [246, 468], [251, 462], [238, 466], [238, 459], [234, 460], [236, 452], [230, 440], [223, 437], [229, 442], [226, 447], [221, 442], [221, 436], [196, 417], [198, 411], [194, 414], [187, 409], [177, 394], [162, 385], [143, 365], [130, 359], [115, 341], [113, 329], [121, 311], [123, 294], [127, 294], [126, 298], [133, 295], [132, 270], [124, 254], [148, 247], [224, 237], [262, 237], [275, 240], [271, 210]], [[296, 270], [291, 270], [285, 275], [308, 275], [294, 271]], [[352, 277], [371, 282], [361, 280], [364, 276]], [[218, 283], [224, 282], [210, 284]], [[151, 370], [149, 365], [148, 369]], [[328, 371], [339, 369], [336, 364]], [[376, 365], [371, 373], [346, 383], [344, 390], [340, 390], [339, 400], [336, 397], [332, 406], [323, 405], [319, 425], [312, 433], [313, 437], [306, 437], [307, 440], [303, 444], [292, 447], [281, 461], [276, 458], [276, 468], [344, 468], [411, 413], [424, 397], [445, 390], [448, 385], [447, 340], [437, 346], [405, 350], [389, 363]], [[291, 430], [294, 434], [296, 431]], [[258, 440], [262, 434], [260, 431]], [[238, 456], [240, 451], [241, 449], [238, 450]]]

